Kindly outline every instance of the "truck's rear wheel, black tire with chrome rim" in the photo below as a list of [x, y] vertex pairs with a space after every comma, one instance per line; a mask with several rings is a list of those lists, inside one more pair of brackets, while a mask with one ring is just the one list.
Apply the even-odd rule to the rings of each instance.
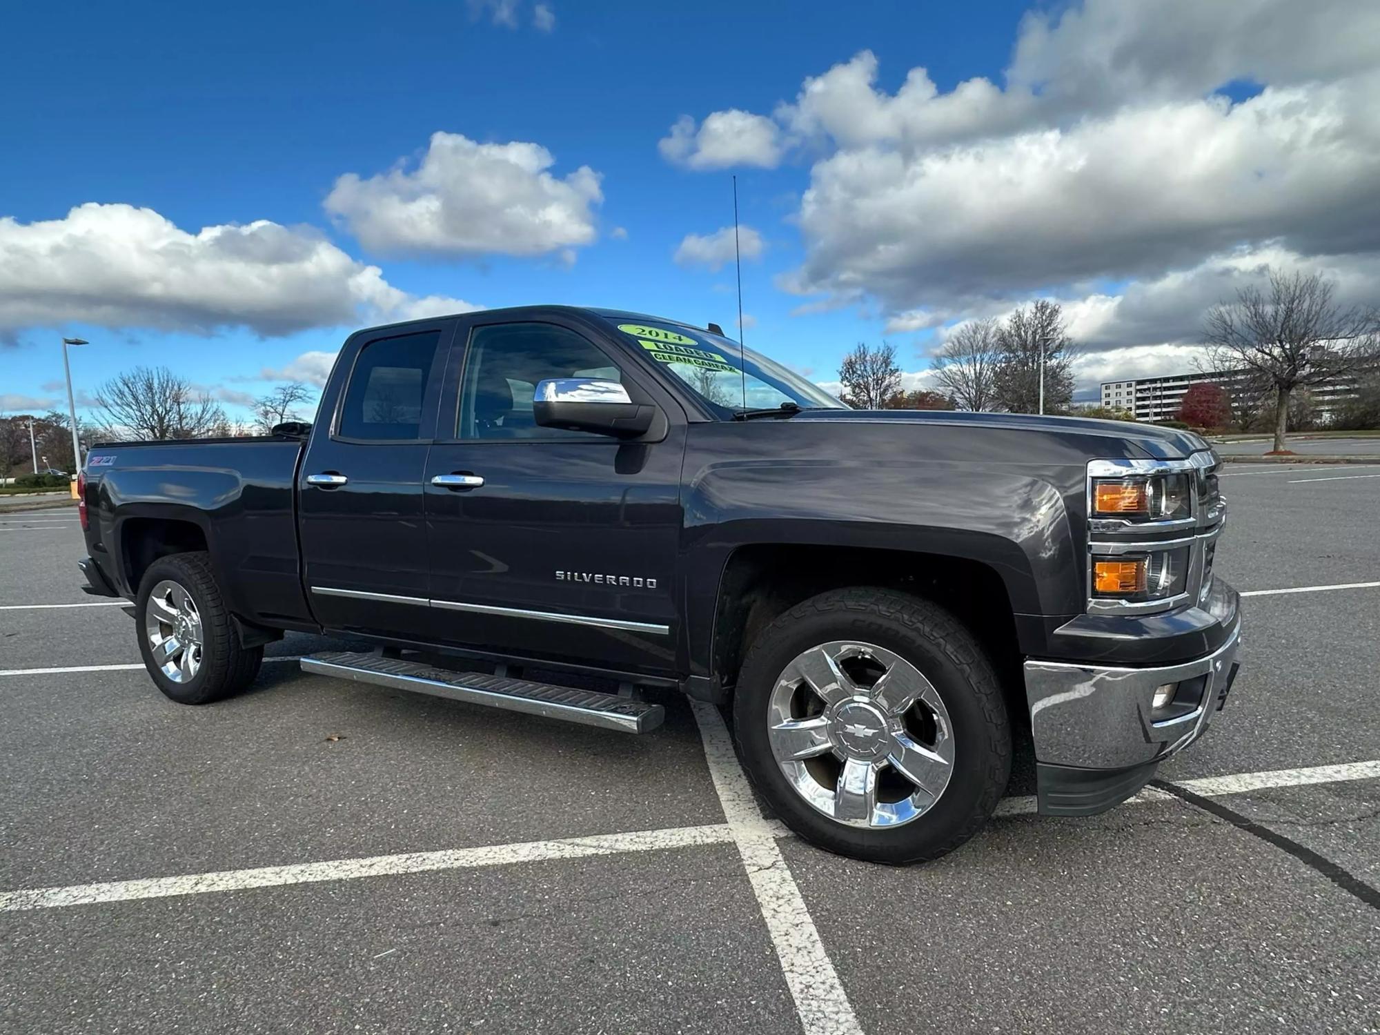
[[204, 551], [155, 560], [134, 603], [139, 654], [168, 698], [210, 704], [254, 682], [264, 647], [240, 643]]

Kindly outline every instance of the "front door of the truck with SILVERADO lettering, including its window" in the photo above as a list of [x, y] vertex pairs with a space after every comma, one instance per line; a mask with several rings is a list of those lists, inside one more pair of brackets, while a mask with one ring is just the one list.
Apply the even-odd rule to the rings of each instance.
[[[431, 629], [443, 643], [621, 671], [675, 671], [684, 417], [596, 334], [469, 320], [426, 460]], [[668, 417], [660, 442], [541, 428], [546, 378], [621, 381]], [[644, 377], [644, 375], [642, 375]], [[460, 476], [457, 479], [455, 476]], [[460, 484], [457, 484], [460, 482]]]

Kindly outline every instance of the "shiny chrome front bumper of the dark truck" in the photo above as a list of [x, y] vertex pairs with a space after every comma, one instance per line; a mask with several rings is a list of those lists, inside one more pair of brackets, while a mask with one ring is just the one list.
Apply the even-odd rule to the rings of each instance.
[[[1041, 813], [1090, 816], [1144, 787], [1159, 762], [1208, 729], [1236, 676], [1239, 643], [1241, 613], [1234, 606], [1221, 646], [1192, 661], [1156, 668], [1027, 661]], [[1191, 687], [1196, 707], [1152, 719], [1155, 687], [1163, 683]]]

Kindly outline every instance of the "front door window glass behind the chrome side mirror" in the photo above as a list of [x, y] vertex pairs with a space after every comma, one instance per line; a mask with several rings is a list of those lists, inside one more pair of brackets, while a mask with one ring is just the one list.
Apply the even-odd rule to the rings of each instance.
[[460, 392], [461, 439], [599, 439], [593, 432], [542, 428], [533, 417], [537, 384], [588, 377], [622, 381], [622, 373], [586, 338], [549, 323], [476, 327]]

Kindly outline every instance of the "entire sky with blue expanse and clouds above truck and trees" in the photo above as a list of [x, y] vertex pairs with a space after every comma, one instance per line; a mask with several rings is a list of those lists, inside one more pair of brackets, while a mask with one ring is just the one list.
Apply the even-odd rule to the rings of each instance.
[[[1285, 141], [1289, 117], [1317, 115], [1297, 115], [1300, 101], [1370, 95], [1374, 44], [1355, 40], [1376, 39], [1380, 6], [1319, 3], [1326, 39], [1289, 30], [1301, 6], [1201, 7], [1217, 6], [17, 7], [0, 62], [0, 408], [61, 397], [62, 334], [92, 342], [73, 353], [83, 393], [166, 364], [239, 413], [272, 384], [265, 371], [319, 377], [319, 357], [294, 362], [428, 297], [730, 327], [731, 265], [676, 254], [687, 235], [731, 222], [733, 174], [763, 243], [744, 264], [745, 338], [816, 379], [832, 379], [854, 342], [883, 337], [920, 371], [945, 328], [1041, 295], [1065, 302], [1089, 346], [1085, 384], [1183, 364], [1210, 295], [1263, 264], [1318, 264], [1350, 290], [1380, 248], [1369, 232], [1357, 240], [1354, 219], [1317, 230], [1315, 199], [1294, 182], [1317, 159]], [[1169, 51], [1166, 22], [1181, 33]], [[719, 141], [727, 157], [696, 135], [713, 113], [741, 116]], [[689, 144], [658, 148], [682, 116]], [[1279, 131], [1242, 128], [1271, 119]], [[415, 228], [388, 224], [395, 188], [426, 195], [437, 132], [490, 157], [490, 146], [545, 149], [549, 166], [527, 175], [574, 222], [522, 247], [518, 225], [486, 239], [484, 189], [437, 155], [450, 228], [420, 243]], [[1337, 204], [1368, 213], [1380, 148], [1352, 135], [1329, 156], [1351, 185]], [[1223, 141], [1198, 178], [1155, 172], [1173, 167], [1165, 155]], [[1141, 146], [1138, 167], [1116, 167]], [[402, 186], [389, 179], [399, 163]], [[1261, 184], [1263, 163], [1297, 175]], [[1078, 170], [1114, 185], [1108, 197], [1070, 179]], [[346, 174], [364, 185], [353, 200], [338, 188]], [[1212, 214], [1236, 196], [1250, 207]], [[163, 229], [135, 232], [124, 210], [102, 208], [76, 232], [69, 210], [91, 203], [150, 210]], [[200, 272], [181, 262], [192, 243], [178, 235], [257, 221], [286, 230], [237, 243], [233, 276], [219, 253]], [[317, 248], [294, 275], [304, 295], [331, 295], [331, 277], [359, 283], [294, 309], [298, 282], [277, 280], [265, 248]]]

